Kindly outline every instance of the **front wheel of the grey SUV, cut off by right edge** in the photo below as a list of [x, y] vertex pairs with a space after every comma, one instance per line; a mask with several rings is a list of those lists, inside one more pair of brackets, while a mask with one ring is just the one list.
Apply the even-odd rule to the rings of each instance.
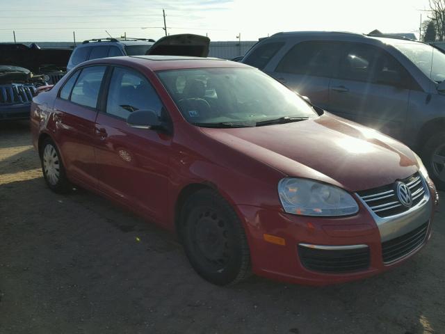
[[437, 188], [445, 190], [445, 132], [434, 134], [428, 139], [422, 158]]

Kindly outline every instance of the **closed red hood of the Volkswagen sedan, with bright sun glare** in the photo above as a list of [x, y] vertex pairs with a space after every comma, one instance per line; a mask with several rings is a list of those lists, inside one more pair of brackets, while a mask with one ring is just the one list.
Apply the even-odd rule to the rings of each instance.
[[284, 175], [349, 191], [391, 184], [419, 170], [414, 153], [402, 143], [330, 113], [282, 125], [202, 132]]

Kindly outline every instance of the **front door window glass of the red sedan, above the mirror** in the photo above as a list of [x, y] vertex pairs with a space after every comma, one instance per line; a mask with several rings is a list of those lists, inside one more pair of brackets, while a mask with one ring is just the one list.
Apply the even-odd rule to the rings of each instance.
[[162, 102], [142, 74], [115, 67], [108, 90], [106, 113], [127, 119], [136, 110], [152, 110], [161, 117]]

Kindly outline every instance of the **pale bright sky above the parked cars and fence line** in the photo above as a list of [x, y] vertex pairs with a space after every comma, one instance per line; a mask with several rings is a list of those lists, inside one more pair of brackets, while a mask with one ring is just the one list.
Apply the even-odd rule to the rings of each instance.
[[258, 40], [280, 31], [419, 33], [428, 0], [0, 0], [0, 42], [197, 33]]

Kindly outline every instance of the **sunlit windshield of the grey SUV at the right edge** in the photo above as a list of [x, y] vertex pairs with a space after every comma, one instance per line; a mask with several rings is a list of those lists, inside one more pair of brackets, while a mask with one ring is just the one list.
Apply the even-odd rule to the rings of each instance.
[[421, 43], [394, 43], [396, 49], [425, 73], [432, 81], [437, 83], [445, 80], [445, 54]]

